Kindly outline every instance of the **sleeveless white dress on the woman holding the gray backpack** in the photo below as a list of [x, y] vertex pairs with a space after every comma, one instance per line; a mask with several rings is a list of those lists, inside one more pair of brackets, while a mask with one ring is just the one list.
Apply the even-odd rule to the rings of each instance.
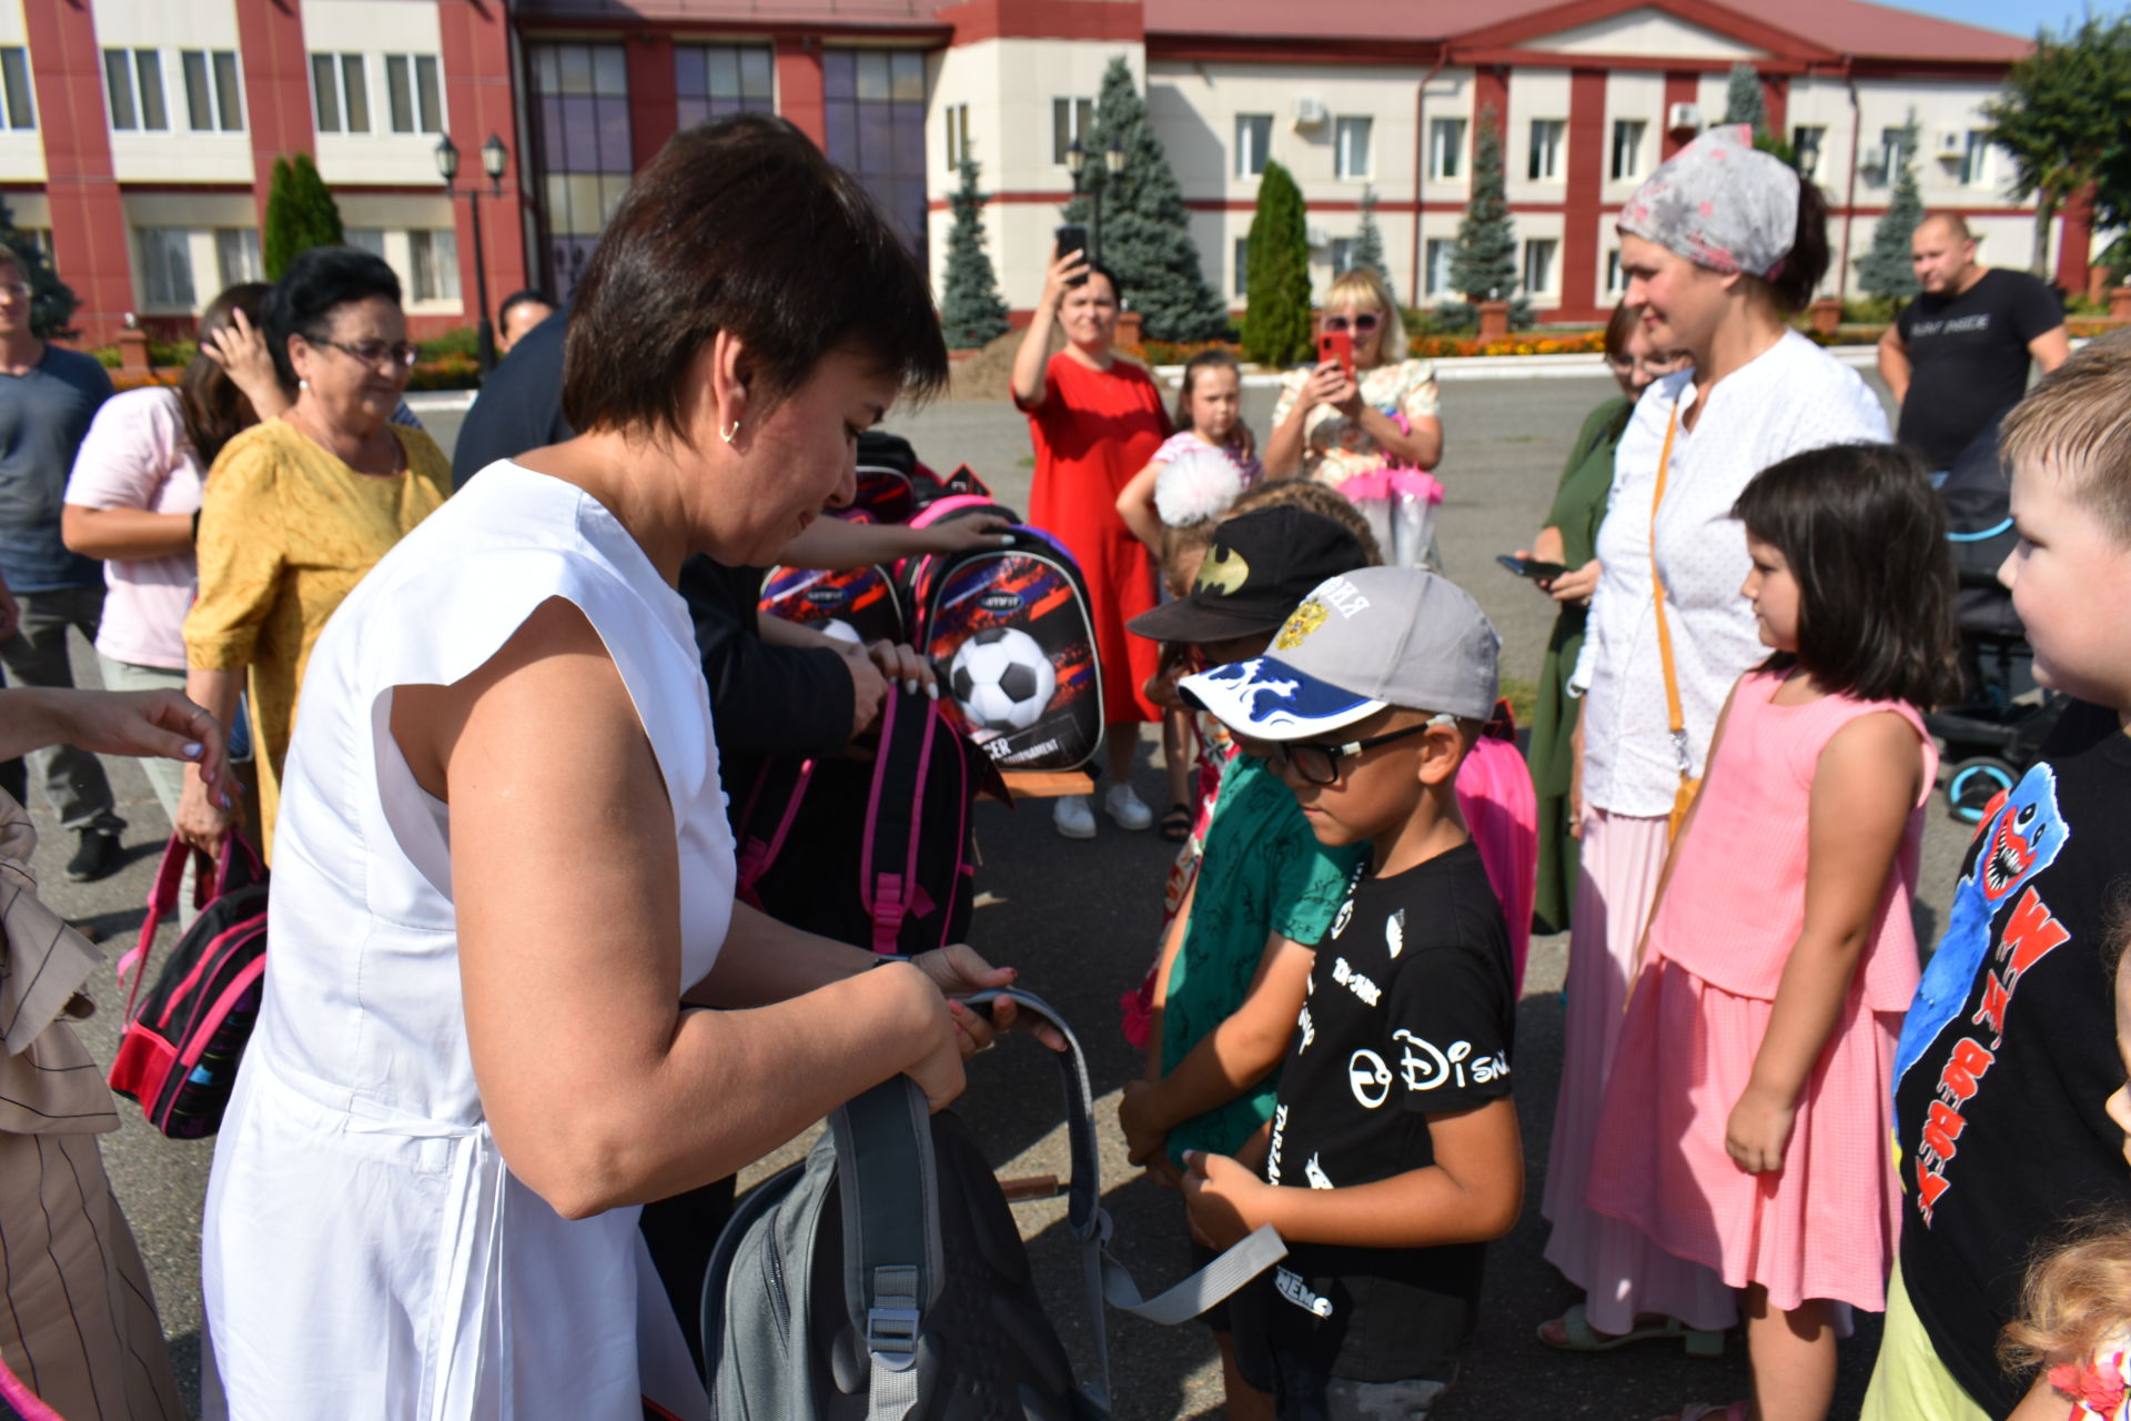
[[[563, 1219], [497, 1153], [467, 1052], [450, 816], [388, 733], [394, 686], [469, 675], [550, 597], [607, 643], [665, 775], [676, 993], [731, 922], [733, 842], [682, 599], [595, 499], [490, 467], [364, 577], [305, 675], [266, 999], [200, 1240], [209, 1372], [241, 1421], [641, 1421], [639, 1393], [710, 1415], [639, 1210]], [[209, 1415], [224, 1415], [213, 1381]]]

